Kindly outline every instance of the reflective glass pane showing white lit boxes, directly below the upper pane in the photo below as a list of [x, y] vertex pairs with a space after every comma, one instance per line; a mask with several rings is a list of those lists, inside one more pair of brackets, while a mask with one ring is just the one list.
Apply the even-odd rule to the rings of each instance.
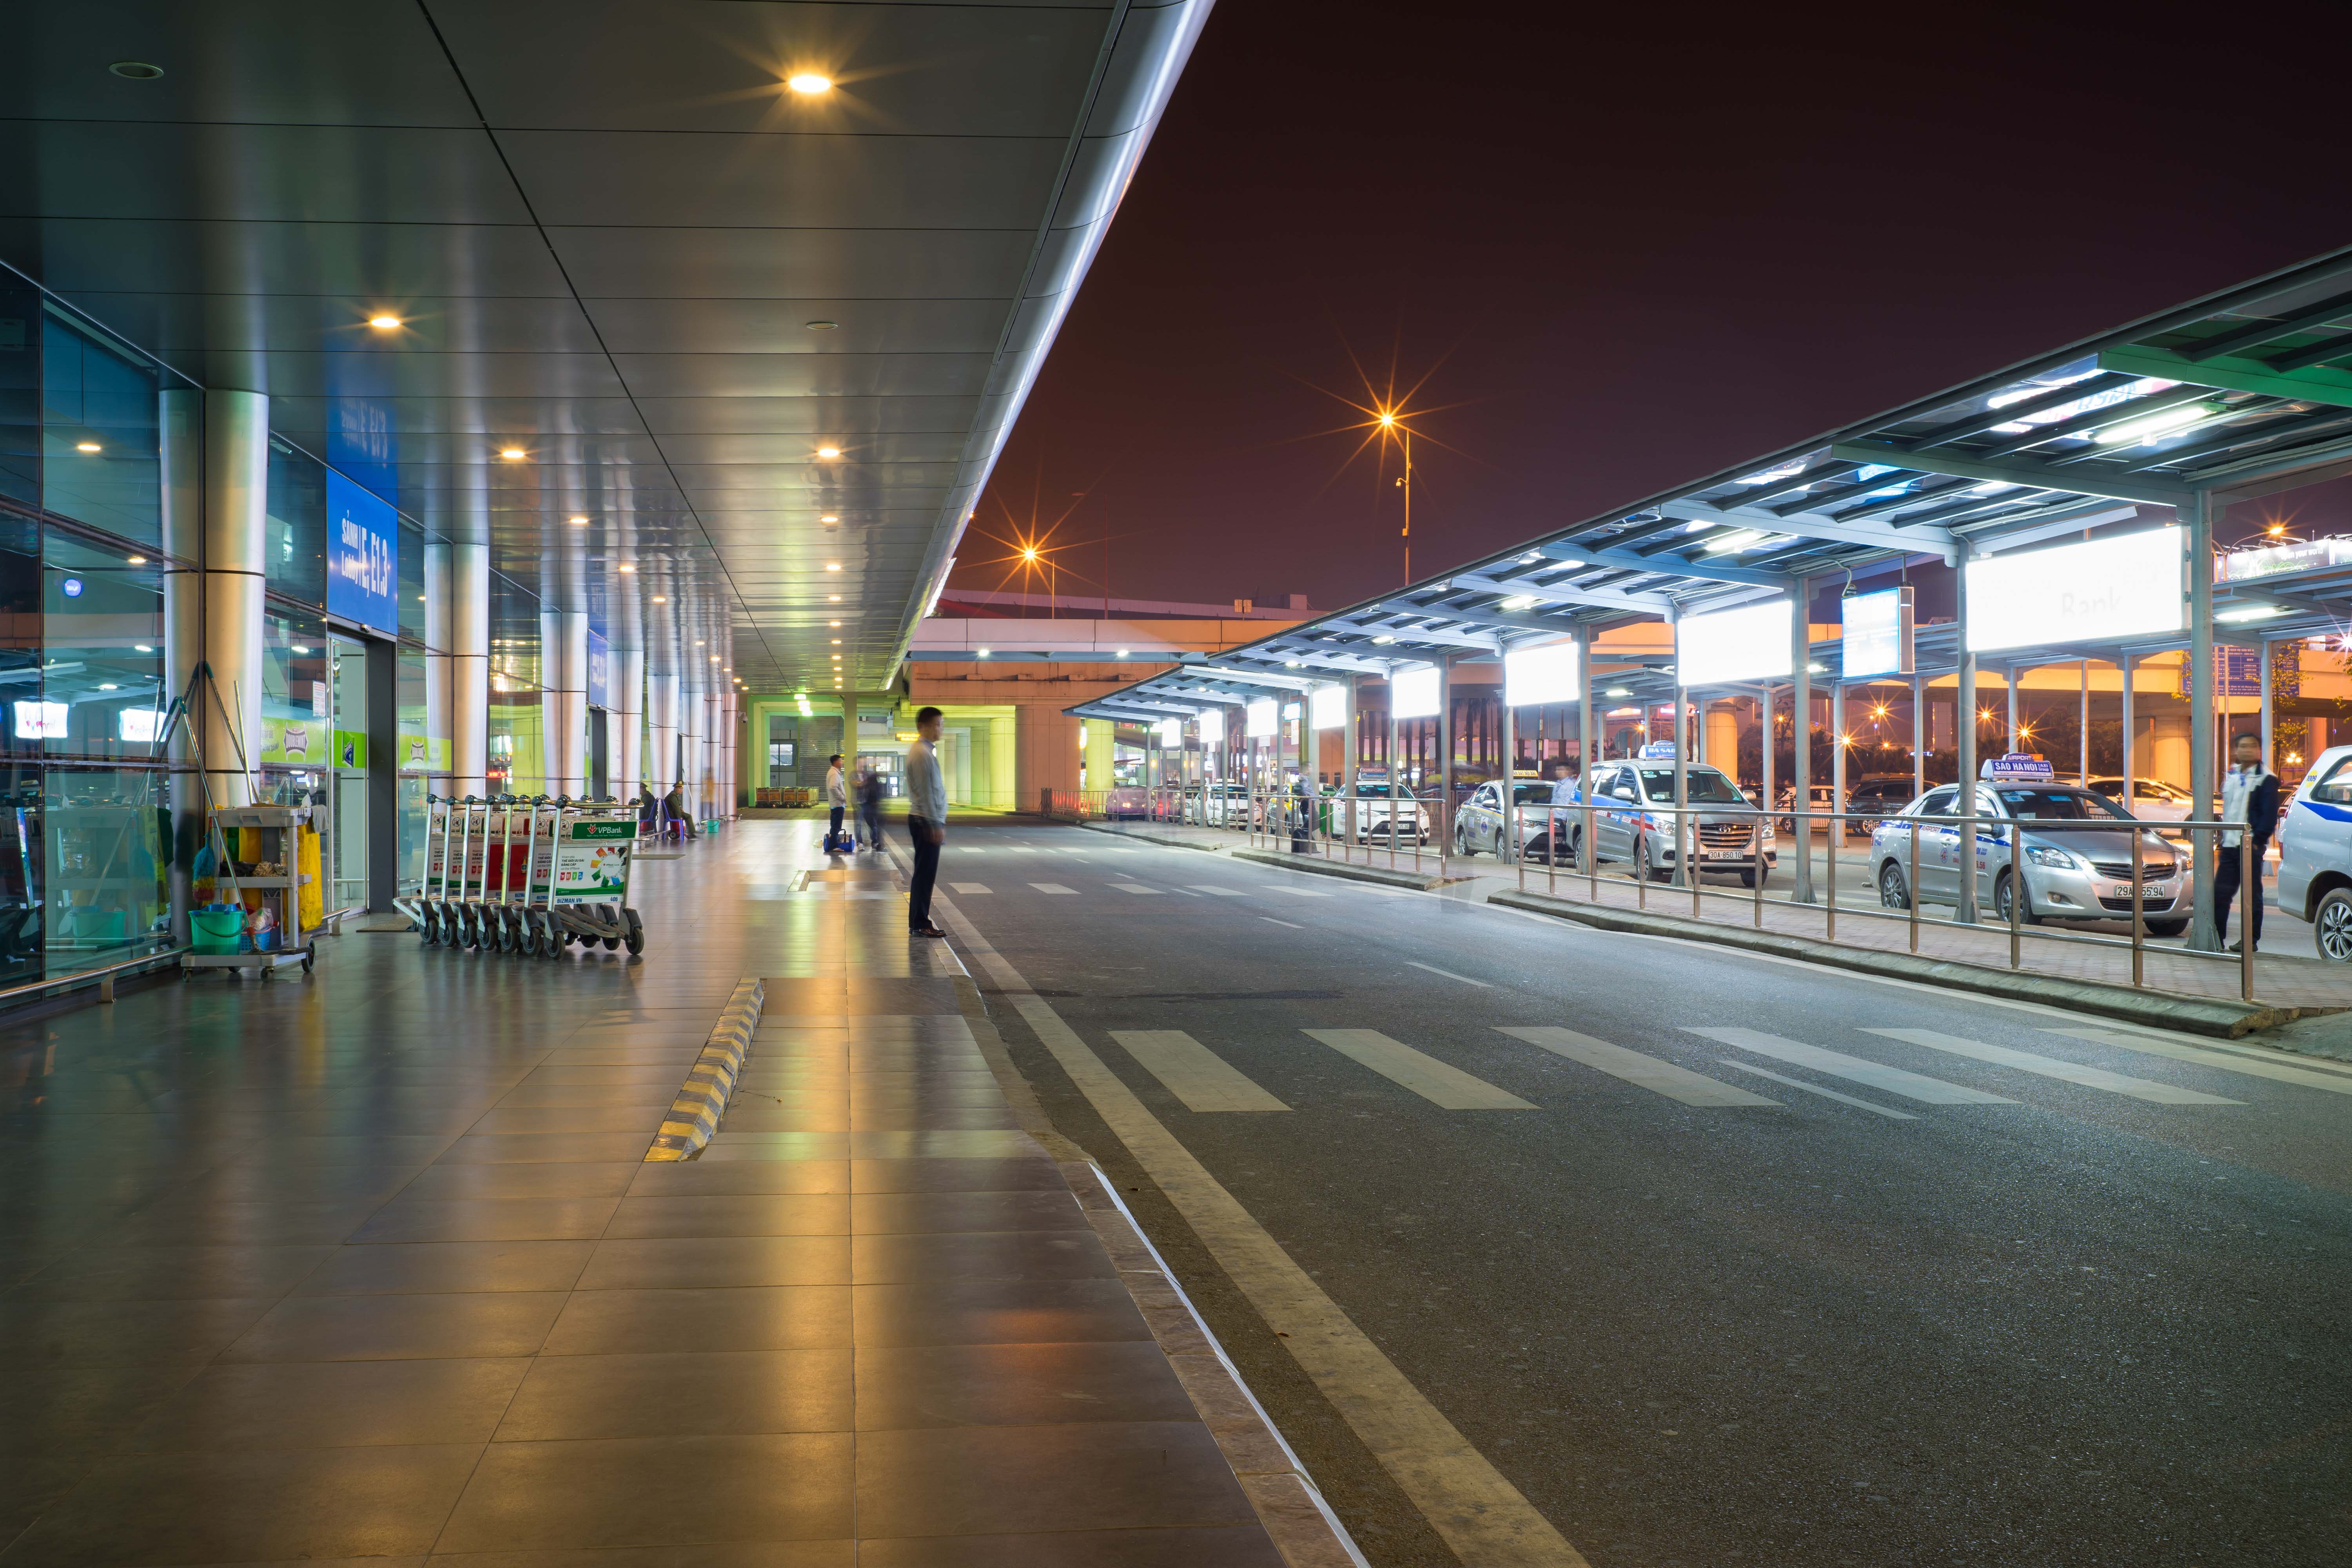
[[9, 729], [52, 757], [162, 757], [162, 569], [49, 529], [42, 557], [40, 691]]

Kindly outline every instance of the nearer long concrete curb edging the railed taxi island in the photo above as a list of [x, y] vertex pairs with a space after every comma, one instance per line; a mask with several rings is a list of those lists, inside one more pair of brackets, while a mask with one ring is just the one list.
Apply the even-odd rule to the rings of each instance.
[[1917, 980], [1922, 985], [1945, 985], [1950, 990], [1978, 992], [1983, 997], [2009, 997], [2011, 1001], [2042, 1001], [2049, 1006], [2119, 1018], [2157, 1030], [2183, 1030], [2187, 1034], [2213, 1034], [2237, 1039], [2253, 1030], [2267, 1030], [2291, 1018], [2324, 1013], [2328, 1009], [2260, 1006], [2251, 1001], [2227, 1001], [2220, 997], [2183, 997], [2180, 992], [2133, 990], [2129, 985], [2103, 985], [2098, 980], [2060, 980], [2009, 969], [1985, 969], [1983, 964], [1959, 964], [1955, 959], [1922, 959], [1907, 952], [1877, 952], [1872, 947], [1837, 947], [1804, 936], [1780, 936], [1776, 931], [1750, 931], [1745, 926], [1717, 926], [1672, 914], [1646, 914], [1639, 910], [1606, 910], [1548, 893], [1519, 893], [1503, 889], [1489, 893], [1486, 903], [1531, 914], [1552, 914], [1599, 931], [1630, 931], [1635, 936], [1672, 936], [1691, 943], [1717, 943], [1745, 952], [1769, 952], [1780, 959], [1802, 959], [1830, 969], [1853, 969], [1867, 976], [1893, 980]]

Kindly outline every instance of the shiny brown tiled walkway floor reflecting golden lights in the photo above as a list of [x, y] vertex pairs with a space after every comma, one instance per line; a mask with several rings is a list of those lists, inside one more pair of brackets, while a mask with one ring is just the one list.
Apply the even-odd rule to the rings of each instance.
[[[1279, 1563], [814, 837], [642, 867], [640, 964], [353, 933], [0, 1037], [0, 1566]], [[642, 1164], [748, 973], [717, 1138]]]

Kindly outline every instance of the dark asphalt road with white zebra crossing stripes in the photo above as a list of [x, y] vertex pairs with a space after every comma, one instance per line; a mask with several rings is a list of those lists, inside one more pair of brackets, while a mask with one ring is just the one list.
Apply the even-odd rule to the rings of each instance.
[[[1068, 827], [941, 891], [1599, 1568], [2352, 1561], [2352, 1070]], [[1364, 1554], [1454, 1561], [990, 1009]]]

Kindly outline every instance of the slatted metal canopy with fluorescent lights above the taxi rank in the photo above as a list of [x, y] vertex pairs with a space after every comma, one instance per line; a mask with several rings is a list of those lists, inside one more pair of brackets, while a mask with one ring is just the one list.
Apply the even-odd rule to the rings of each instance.
[[[2352, 247], [1541, 534], [1218, 658], [1247, 665], [1312, 649], [1324, 658], [1362, 658], [1367, 665], [1357, 668], [1374, 670], [1465, 651], [1494, 658], [1581, 625], [1792, 595], [1806, 578], [1893, 557], [1957, 564], [1962, 552], [2129, 527], [2140, 505], [2178, 505], [2197, 491], [2220, 503], [2347, 473]], [[2223, 621], [2216, 639], [2340, 635], [2352, 614], [2352, 567], [2213, 588], [2216, 618], [2265, 602], [2279, 614]], [[2331, 614], [2331, 604], [2340, 609]], [[1922, 628], [1922, 672], [1957, 668], [1957, 628]], [[2183, 635], [2157, 646], [2185, 644]], [[2025, 668], [2105, 656], [2065, 644], [1980, 658], [1987, 668]], [[1825, 679], [1837, 679], [1835, 642], [1813, 644], [1813, 661]], [[1613, 661], [1595, 654], [1595, 663]], [[1148, 693], [1157, 679], [1169, 677], [1124, 691]], [[1672, 677], [1658, 670], [1625, 670], [1616, 679], [1672, 689]], [[1068, 712], [1096, 715], [1096, 705]]]

